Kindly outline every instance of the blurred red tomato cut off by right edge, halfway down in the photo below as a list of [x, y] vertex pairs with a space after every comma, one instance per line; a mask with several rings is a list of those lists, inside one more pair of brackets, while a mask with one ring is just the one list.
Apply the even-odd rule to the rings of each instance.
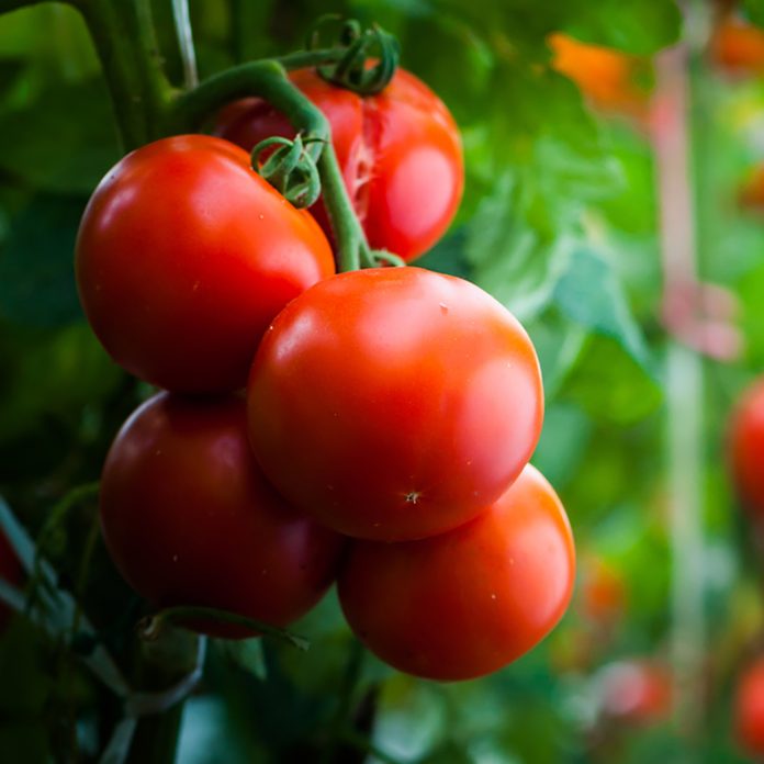
[[740, 501], [764, 521], [764, 378], [743, 393], [732, 414], [729, 453]]

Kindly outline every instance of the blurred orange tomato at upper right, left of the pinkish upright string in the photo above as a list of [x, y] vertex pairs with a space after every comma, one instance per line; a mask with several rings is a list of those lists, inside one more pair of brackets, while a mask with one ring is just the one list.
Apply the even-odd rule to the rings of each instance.
[[647, 115], [647, 90], [637, 82], [644, 64], [638, 58], [559, 32], [548, 42], [554, 54], [552, 67], [572, 79], [594, 105], [636, 117]]

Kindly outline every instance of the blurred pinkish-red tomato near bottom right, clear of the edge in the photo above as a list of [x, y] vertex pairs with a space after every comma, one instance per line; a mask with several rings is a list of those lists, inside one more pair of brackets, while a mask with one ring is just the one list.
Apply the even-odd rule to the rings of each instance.
[[647, 660], [620, 661], [606, 666], [600, 676], [600, 709], [610, 720], [649, 724], [671, 714], [671, 674]]

